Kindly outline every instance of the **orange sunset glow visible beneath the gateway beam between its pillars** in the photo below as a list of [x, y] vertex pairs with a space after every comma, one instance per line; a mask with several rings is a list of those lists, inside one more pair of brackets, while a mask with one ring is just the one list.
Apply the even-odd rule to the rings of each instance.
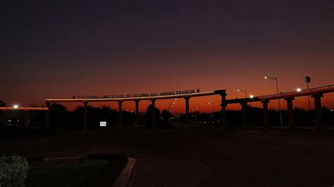
[[[231, 97], [227, 97], [230, 99]], [[240, 97], [242, 98], [242, 97]], [[185, 99], [178, 98], [178, 100], [170, 101], [170, 99], [164, 100], [157, 100], [155, 102], [156, 108], [159, 110], [168, 110], [170, 103], [175, 103], [172, 108], [172, 114], [178, 115], [180, 113], [185, 113]], [[190, 98], [190, 112], [197, 111], [197, 112], [213, 112], [214, 108], [209, 103], [214, 103], [215, 111], [221, 110], [221, 97], [220, 96], [203, 96], [203, 97], [194, 97]], [[314, 100], [310, 97], [311, 109], [314, 109]], [[68, 110], [74, 110], [78, 105], [83, 105], [80, 103], [62, 103], [63, 105], [68, 108]], [[151, 101], [140, 101], [140, 112], [145, 112], [147, 107], [151, 104]], [[252, 107], [262, 108], [261, 102], [249, 102], [249, 105]], [[114, 110], [118, 110], [118, 103], [117, 102], [97, 102], [97, 103], [89, 103], [94, 107], [101, 107], [102, 105], [109, 106]], [[286, 102], [283, 99], [280, 99], [280, 105], [282, 110], [287, 110]], [[322, 105], [326, 108], [333, 109], [334, 108], [334, 93], [325, 93], [322, 98]], [[308, 110], [308, 98], [307, 96], [296, 97], [295, 101], [293, 102], [294, 108], [303, 108], [304, 110]], [[273, 108], [278, 110], [278, 100], [273, 100], [268, 103], [268, 108]], [[134, 101], [124, 101], [123, 102], [123, 111], [135, 111], [135, 102]], [[226, 107], [226, 110], [241, 110], [241, 105], [234, 103], [229, 104]]]

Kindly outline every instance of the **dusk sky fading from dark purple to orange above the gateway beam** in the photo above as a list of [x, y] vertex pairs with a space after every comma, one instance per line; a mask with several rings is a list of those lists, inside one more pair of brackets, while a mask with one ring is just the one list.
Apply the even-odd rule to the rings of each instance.
[[[243, 96], [236, 89], [274, 93], [264, 75], [277, 76], [280, 91], [305, 89], [305, 75], [311, 87], [333, 84], [333, 7], [329, 0], [3, 0], [0, 100], [29, 106], [197, 88], [226, 89], [228, 98]], [[323, 104], [334, 108], [333, 100], [329, 94]], [[205, 99], [190, 104], [209, 110]]]

